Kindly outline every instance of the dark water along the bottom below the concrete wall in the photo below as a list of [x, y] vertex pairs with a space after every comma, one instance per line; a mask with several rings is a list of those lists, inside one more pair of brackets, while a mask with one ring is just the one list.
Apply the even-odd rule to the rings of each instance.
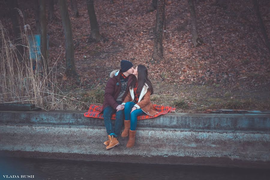
[[[258, 169], [32, 158], [1, 158], [0, 175], [5, 180], [268, 180], [270, 177], [267, 170]], [[4, 178], [3, 175], [34, 175], [34, 178]]]

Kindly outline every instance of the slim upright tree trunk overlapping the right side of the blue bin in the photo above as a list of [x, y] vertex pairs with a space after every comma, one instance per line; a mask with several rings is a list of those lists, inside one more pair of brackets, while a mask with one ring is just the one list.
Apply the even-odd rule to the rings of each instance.
[[40, 43], [40, 51], [41, 61], [43, 61], [44, 69], [48, 68], [48, 49], [47, 49], [47, 22], [46, 22], [46, 4], [45, 0], [38, 0], [39, 4], [39, 17], [40, 17], [40, 29], [41, 29], [41, 43]]

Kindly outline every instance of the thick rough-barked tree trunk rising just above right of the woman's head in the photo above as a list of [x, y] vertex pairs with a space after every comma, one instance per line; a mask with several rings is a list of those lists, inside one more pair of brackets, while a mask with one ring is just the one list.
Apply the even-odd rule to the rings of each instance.
[[154, 39], [153, 59], [157, 62], [163, 59], [163, 24], [165, 16], [165, 0], [158, 0], [157, 16], [156, 16], [156, 31]]

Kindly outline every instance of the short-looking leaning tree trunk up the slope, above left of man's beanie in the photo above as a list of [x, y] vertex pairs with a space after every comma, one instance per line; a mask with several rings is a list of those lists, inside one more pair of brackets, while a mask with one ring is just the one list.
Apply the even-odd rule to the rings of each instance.
[[90, 19], [92, 38], [95, 41], [100, 41], [101, 35], [99, 33], [98, 21], [97, 21], [97, 17], [95, 13], [95, 8], [94, 8], [94, 1], [86, 0], [86, 3], [87, 3], [87, 11], [88, 11], [89, 19]]

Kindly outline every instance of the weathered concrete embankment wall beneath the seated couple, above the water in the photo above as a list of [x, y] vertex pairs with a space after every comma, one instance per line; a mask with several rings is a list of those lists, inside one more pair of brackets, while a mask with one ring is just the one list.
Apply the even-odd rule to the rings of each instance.
[[136, 143], [109, 151], [103, 119], [84, 112], [0, 111], [2, 156], [270, 168], [270, 114], [170, 113], [139, 120]]

